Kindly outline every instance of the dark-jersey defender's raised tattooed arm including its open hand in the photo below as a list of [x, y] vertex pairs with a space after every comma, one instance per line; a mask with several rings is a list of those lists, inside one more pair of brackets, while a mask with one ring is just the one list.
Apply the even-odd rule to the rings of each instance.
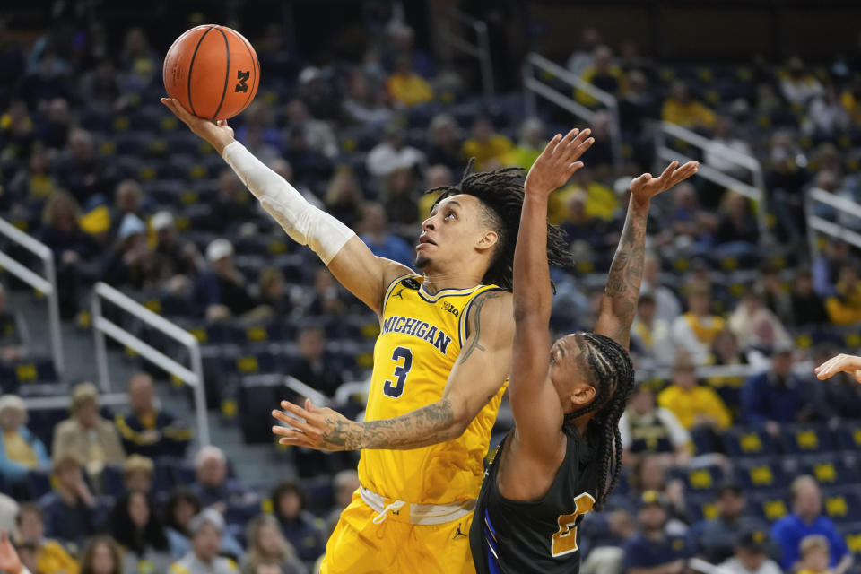
[[598, 335], [606, 335], [626, 349], [631, 341], [631, 325], [637, 314], [639, 284], [643, 278], [649, 204], [652, 197], [690, 178], [699, 165], [696, 161], [689, 161], [679, 167], [679, 162], [673, 161], [658, 178], [644, 173], [631, 181], [631, 200], [622, 238], [610, 265], [595, 326]]

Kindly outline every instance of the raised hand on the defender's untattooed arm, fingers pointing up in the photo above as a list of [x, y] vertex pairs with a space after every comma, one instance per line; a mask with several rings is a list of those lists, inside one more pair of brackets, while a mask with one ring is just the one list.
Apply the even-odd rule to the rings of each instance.
[[581, 132], [575, 127], [565, 137], [555, 135], [526, 174], [523, 184], [526, 194], [546, 196], [564, 186], [574, 172], [583, 167], [583, 162], [577, 160], [595, 143], [595, 139], [589, 137], [591, 133], [589, 129]]

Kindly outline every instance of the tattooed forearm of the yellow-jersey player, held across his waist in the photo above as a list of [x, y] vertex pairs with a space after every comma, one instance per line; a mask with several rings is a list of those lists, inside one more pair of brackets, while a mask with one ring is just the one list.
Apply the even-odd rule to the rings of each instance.
[[326, 420], [324, 439], [339, 448], [421, 448], [450, 439], [455, 413], [447, 398], [395, 419], [352, 422]]

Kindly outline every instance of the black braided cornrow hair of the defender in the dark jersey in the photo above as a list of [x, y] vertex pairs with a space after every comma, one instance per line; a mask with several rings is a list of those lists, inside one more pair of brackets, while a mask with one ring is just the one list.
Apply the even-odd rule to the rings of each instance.
[[600, 487], [595, 501], [596, 510], [619, 483], [622, 472], [622, 435], [619, 419], [634, 391], [634, 368], [631, 357], [621, 344], [608, 336], [582, 333], [587, 341], [587, 361], [590, 384], [596, 389], [595, 399], [577, 411], [565, 415], [565, 431], [576, 432], [575, 419], [597, 411], [589, 421], [587, 432], [596, 439], [601, 469]]

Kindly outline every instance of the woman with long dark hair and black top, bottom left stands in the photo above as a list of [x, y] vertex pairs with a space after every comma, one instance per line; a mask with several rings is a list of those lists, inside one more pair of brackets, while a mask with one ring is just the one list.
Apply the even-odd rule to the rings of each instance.
[[126, 572], [139, 571], [139, 564], [152, 564], [155, 571], [170, 565], [168, 536], [152, 500], [142, 491], [121, 496], [110, 512], [109, 532], [123, 546]]

